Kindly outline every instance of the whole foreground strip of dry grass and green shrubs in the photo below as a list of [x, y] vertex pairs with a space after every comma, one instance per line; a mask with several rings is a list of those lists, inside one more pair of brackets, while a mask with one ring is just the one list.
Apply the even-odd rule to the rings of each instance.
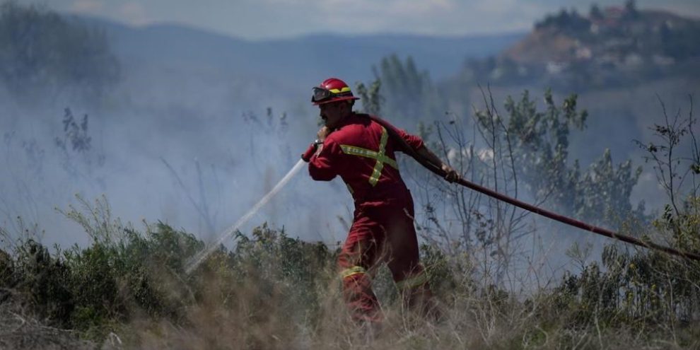
[[[368, 327], [351, 322], [337, 252], [325, 246], [262, 226], [187, 275], [202, 247], [192, 235], [98, 221], [83, 223], [115, 239], [54, 254], [18, 244], [3, 255], [0, 287], [11, 293], [1, 296], [0, 348], [700, 349], [700, 323], [676, 317], [688, 315], [679, 305], [700, 310], [697, 265], [657, 256], [634, 257], [634, 269], [626, 257], [615, 274], [587, 267], [523, 295], [477, 279], [469, 270], [477, 257], [424, 247], [441, 317], [404, 310], [380, 269], [375, 291], [385, 320]], [[651, 283], [665, 294], [649, 293], [643, 286]], [[611, 299], [609, 286], [631, 298], [613, 291]]]

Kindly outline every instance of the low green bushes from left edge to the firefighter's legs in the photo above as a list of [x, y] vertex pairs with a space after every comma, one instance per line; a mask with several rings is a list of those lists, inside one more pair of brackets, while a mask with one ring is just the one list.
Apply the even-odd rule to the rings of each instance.
[[303, 322], [318, 313], [320, 292], [334, 276], [335, 252], [267, 225], [251, 238], [238, 233], [234, 250], [221, 247], [187, 275], [202, 241], [161, 222], [139, 233], [113, 220], [105, 199], [82, 205], [64, 214], [83, 226], [92, 245], [50, 254], [27, 240], [12, 255], [3, 252], [0, 303], [24, 303], [50, 325], [76, 329], [86, 339], [105, 339], [135, 317], [185, 324], [187, 310], [212, 295], [223, 308], [255, 308], [253, 320], [274, 308]]

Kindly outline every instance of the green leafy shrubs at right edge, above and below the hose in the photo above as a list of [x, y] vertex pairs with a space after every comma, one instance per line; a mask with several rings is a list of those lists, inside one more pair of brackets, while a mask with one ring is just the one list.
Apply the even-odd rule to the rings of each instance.
[[[655, 165], [659, 185], [666, 190], [670, 202], [651, 227], [644, 229], [644, 238], [660, 239], [677, 250], [696, 253], [700, 252], [697, 235], [700, 201], [696, 185], [682, 186], [686, 176], [696, 183], [697, 173], [692, 168], [699, 157], [694, 124], [691, 101], [688, 119], [664, 115], [663, 123], [652, 128], [660, 143], [643, 145], [638, 142], [638, 145], [648, 152], [647, 159]], [[689, 136], [692, 136], [689, 142], [684, 143], [684, 137]], [[691, 156], [674, 156], [675, 152], [682, 152], [680, 146], [688, 147]], [[568, 310], [567, 322], [572, 327], [593, 323], [601, 327], [624, 324], [653, 334], [664, 327], [678, 327], [697, 320], [700, 262], [658, 251], [631, 254], [621, 251], [617, 245], [609, 245], [602, 252], [600, 264], [602, 267], [597, 262], [582, 265], [578, 275], [568, 273], [554, 290], [554, 303]], [[693, 344], [692, 340], [683, 339], [680, 345]]]

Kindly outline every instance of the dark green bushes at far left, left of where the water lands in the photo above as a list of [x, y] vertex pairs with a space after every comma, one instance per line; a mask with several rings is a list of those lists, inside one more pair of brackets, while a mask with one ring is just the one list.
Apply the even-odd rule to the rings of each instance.
[[86, 228], [93, 244], [50, 254], [35, 240], [24, 241], [3, 262], [11, 267], [1, 279], [12, 291], [9, 300], [87, 339], [104, 339], [134, 315], [180, 317], [189, 300], [170, 287], [203, 244], [163, 223], [141, 235], [112, 221], [105, 201], [84, 205], [86, 213], [71, 208], [64, 214]]

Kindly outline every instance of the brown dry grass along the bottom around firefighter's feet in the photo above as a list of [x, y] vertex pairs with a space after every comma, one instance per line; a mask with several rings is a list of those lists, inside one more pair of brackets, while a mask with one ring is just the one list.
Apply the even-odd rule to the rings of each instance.
[[[317, 286], [317, 308], [290, 303], [296, 296], [251, 278], [231, 288], [221, 276], [206, 276], [206, 293], [189, 305], [180, 322], [139, 318], [120, 334], [140, 349], [697, 349], [700, 329], [686, 326], [570, 324], [549, 293], [526, 302], [501, 291], [441, 296], [442, 317], [428, 320], [391, 300], [376, 327], [351, 322], [334, 269]], [[381, 281], [380, 281], [381, 283]], [[471, 288], [471, 286], [470, 286]], [[461, 289], [461, 288], [460, 288]], [[305, 291], [299, 291], [304, 293]], [[390, 299], [380, 295], [381, 299]], [[695, 335], [693, 335], [693, 332]]]

